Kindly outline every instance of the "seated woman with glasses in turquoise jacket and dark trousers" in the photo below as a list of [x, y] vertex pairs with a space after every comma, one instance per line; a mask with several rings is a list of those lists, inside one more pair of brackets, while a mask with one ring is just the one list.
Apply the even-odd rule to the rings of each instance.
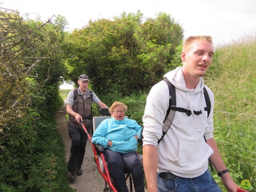
[[[114, 186], [118, 192], [128, 192], [124, 171], [132, 173], [134, 189], [142, 188], [144, 176], [136, 154], [142, 127], [135, 120], [124, 118], [127, 106], [114, 102], [108, 109], [112, 118], [103, 120], [92, 136], [94, 144], [104, 148]], [[144, 192], [144, 188], [141, 190]]]

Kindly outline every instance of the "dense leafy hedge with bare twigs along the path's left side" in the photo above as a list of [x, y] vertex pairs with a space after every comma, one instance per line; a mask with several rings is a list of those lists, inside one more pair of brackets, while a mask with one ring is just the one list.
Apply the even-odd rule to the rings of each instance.
[[63, 145], [52, 123], [63, 104], [56, 78], [60, 71], [54, 70], [61, 67], [56, 60], [48, 68], [49, 61], [42, 62], [49, 53], [41, 52], [43, 45], [50, 48], [54, 44], [49, 35], [54, 25], [23, 20], [17, 12], [3, 10], [0, 8], [0, 191], [72, 191]]

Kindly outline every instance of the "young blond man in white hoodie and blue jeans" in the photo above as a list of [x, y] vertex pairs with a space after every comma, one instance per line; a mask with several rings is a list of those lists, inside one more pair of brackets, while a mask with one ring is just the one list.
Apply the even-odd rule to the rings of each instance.
[[[228, 192], [239, 186], [232, 180], [213, 138], [212, 91], [204, 85], [203, 76], [210, 67], [214, 48], [211, 36], [188, 37], [182, 49], [182, 67], [165, 74], [176, 89], [176, 106], [191, 111], [176, 111], [164, 138], [162, 126], [169, 106], [169, 89], [161, 81], [152, 87], [143, 116], [143, 164], [148, 192], [221, 192], [208, 169], [210, 157]], [[207, 117], [203, 88], [210, 97]], [[201, 111], [201, 114], [194, 114]], [[207, 143], [204, 141], [204, 135]]]

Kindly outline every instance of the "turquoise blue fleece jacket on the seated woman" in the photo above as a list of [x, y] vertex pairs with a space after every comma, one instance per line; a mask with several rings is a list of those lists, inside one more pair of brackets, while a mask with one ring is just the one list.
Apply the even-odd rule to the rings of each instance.
[[[141, 129], [135, 120], [124, 118], [119, 121], [112, 117], [103, 120], [96, 128], [92, 142], [121, 154], [136, 151], [138, 141], [134, 136], [138, 135], [140, 138]], [[108, 147], [109, 140], [112, 141], [111, 147]]]

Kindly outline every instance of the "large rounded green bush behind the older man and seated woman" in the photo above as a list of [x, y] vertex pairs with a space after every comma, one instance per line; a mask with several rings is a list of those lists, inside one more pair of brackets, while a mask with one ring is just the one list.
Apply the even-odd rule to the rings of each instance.
[[66, 39], [67, 78], [75, 82], [77, 74], [88, 74], [98, 94], [144, 91], [162, 78], [182, 38], [180, 24], [165, 13], [146, 21], [140, 11], [90, 21]]

